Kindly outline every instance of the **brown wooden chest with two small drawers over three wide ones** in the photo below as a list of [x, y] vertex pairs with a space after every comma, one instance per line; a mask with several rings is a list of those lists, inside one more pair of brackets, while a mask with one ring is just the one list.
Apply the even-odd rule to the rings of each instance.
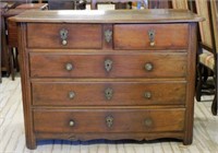
[[26, 144], [192, 143], [196, 23], [186, 11], [26, 12], [19, 22]]

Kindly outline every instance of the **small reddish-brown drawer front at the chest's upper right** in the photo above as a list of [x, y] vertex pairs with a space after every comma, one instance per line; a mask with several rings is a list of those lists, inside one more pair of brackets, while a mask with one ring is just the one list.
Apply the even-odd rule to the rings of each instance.
[[114, 49], [187, 48], [187, 24], [117, 24]]

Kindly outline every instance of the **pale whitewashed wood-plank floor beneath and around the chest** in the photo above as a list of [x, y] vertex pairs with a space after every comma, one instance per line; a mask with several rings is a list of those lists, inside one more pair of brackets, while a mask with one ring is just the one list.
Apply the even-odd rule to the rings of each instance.
[[213, 97], [195, 103], [194, 140], [157, 141], [40, 141], [36, 150], [25, 148], [21, 79], [3, 78], [0, 84], [0, 153], [218, 153], [218, 116], [210, 113]]

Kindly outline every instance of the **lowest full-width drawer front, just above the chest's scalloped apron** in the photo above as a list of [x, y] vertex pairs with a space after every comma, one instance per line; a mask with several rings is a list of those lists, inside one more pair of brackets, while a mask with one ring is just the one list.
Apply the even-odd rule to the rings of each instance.
[[184, 129], [184, 108], [35, 110], [35, 132], [164, 132]]

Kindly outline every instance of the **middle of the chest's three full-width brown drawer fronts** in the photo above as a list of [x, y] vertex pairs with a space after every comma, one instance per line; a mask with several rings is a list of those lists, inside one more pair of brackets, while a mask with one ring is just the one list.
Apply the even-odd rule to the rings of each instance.
[[177, 82], [41, 82], [33, 83], [32, 90], [34, 105], [137, 106], [184, 104], [185, 86]]

